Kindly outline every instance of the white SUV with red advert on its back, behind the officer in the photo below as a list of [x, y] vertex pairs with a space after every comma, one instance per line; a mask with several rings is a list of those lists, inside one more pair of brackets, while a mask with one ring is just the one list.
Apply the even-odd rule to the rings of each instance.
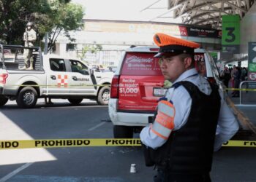
[[[108, 103], [114, 138], [132, 138], [134, 132], [153, 122], [157, 102], [167, 91], [159, 58], [154, 58], [157, 51], [157, 47], [130, 48], [120, 61], [112, 79]], [[217, 82], [223, 91], [218, 68], [208, 52], [195, 50], [195, 61], [198, 69], [204, 63], [201, 74]]]

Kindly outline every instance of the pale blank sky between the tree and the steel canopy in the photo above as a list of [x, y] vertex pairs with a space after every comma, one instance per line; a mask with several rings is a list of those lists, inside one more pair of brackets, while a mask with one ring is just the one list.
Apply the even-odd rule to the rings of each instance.
[[[72, 2], [83, 5], [88, 19], [180, 23], [180, 20], [173, 20], [170, 17], [171, 12], [165, 17], [157, 18], [167, 12], [167, 0], [72, 0]], [[154, 5], [151, 9], [147, 9], [151, 4]]]

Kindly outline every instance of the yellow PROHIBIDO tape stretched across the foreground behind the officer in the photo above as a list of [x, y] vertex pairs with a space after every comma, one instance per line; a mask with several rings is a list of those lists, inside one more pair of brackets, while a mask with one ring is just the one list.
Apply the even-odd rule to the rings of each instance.
[[[140, 139], [78, 138], [24, 141], [0, 141], [1, 149], [59, 148], [86, 146], [141, 146]], [[223, 146], [256, 147], [256, 141], [227, 141]]]

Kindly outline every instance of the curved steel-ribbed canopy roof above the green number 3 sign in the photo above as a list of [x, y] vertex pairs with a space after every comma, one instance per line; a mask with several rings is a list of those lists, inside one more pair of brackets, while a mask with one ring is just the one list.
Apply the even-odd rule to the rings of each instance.
[[142, 11], [164, 9], [162, 1], [165, 1], [165, 12], [159, 11], [159, 15], [151, 19], [152, 21], [174, 18], [180, 19], [184, 24], [203, 25], [217, 29], [222, 27], [222, 15], [238, 14], [242, 19], [254, 3], [254, 0], [157, 0]]

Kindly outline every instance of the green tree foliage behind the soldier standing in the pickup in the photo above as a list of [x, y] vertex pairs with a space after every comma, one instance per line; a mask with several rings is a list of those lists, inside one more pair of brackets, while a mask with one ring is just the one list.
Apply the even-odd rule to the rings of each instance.
[[53, 48], [61, 32], [83, 27], [83, 8], [70, 0], [0, 0], [0, 41], [23, 44], [26, 23], [34, 22], [37, 44], [48, 33], [48, 50]]

